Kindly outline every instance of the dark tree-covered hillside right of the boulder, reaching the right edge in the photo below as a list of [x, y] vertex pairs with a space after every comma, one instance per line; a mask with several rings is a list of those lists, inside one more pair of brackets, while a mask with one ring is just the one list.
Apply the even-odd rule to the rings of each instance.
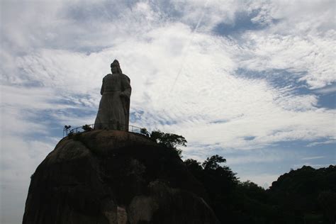
[[202, 164], [184, 161], [206, 189], [207, 202], [221, 223], [335, 223], [335, 166], [291, 169], [264, 190], [252, 181], [238, 181], [224, 162], [219, 155]]

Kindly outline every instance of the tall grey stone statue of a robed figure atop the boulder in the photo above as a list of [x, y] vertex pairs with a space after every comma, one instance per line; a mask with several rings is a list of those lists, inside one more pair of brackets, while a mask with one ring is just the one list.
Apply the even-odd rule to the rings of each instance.
[[128, 131], [130, 118], [130, 78], [123, 72], [118, 60], [111, 64], [112, 74], [103, 77], [101, 101], [94, 129], [113, 129]]

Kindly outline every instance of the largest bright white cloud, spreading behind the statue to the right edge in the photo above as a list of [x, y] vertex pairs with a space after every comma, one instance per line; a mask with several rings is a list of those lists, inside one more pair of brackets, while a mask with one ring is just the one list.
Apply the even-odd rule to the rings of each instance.
[[[317, 96], [275, 88], [264, 79], [237, 77], [234, 57], [243, 52], [237, 43], [195, 33], [184, 57], [191, 33], [188, 26], [172, 23], [101, 52], [40, 50], [16, 62], [26, 79], [74, 103], [80, 103], [74, 94], [86, 94], [80, 100], [95, 108], [104, 75], [96, 71], [107, 73], [111, 58], [118, 55], [132, 79], [132, 109], [145, 111], [139, 125], [180, 130], [191, 142], [253, 148], [335, 135], [329, 125], [335, 111], [318, 109]], [[166, 122], [173, 124], [162, 124]], [[246, 136], [255, 138], [245, 140]]]

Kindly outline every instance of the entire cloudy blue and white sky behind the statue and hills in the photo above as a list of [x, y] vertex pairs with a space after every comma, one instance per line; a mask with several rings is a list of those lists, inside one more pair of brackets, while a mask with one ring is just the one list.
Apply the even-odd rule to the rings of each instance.
[[335, 1], [1, 1], [1, 223], [64, 125], [94, 123], [114, 59], [130, 122], [267, 187], [335, 164]]

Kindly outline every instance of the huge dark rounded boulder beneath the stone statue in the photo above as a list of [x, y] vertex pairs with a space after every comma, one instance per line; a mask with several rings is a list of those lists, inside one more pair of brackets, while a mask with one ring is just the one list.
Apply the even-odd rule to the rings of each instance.
[[32, 176], [23, 224], [218, 223], [173, 150], [133, 133], [62, 139]]

